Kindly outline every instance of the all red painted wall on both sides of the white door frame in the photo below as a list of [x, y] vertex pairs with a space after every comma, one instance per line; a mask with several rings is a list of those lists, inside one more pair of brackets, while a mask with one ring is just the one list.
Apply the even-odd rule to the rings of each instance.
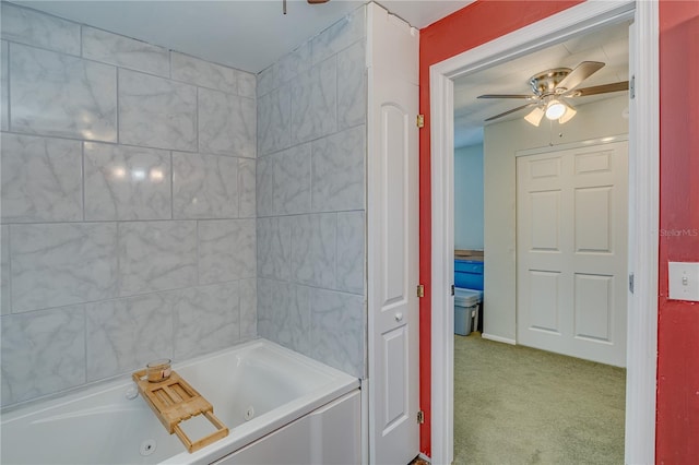
[[[429, 67], [578, 1], [482, 0], [420, 31], [420, 450], [430, 455]], [[656, 462], [699, 463], [699, 305], [667, 299], [667, 262], [699, 261], [699, 2], [660, 2], [661, 218]], [[691, 85], [694, 84], [694, 85]], [[678, 111], [679, 110], [679, 111]]]

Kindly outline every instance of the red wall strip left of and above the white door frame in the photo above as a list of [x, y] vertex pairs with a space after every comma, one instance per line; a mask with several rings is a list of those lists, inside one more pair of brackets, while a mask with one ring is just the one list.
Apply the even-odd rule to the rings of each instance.
[[425, 128], [419, 138], [419, 277], [425, 285], [420, 299], [420, 451], [430, 455], [431, 431], [431, 194], [429, 170], [429, 67], [471, 48], [558, 13], [579, 0], [482, 0], [425, 27], [419, 35], [419, 108]]

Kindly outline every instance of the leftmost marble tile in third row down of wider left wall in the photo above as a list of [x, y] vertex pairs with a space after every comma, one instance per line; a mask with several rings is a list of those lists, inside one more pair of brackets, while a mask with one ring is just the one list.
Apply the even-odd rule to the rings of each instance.
[[2, 222], [83, 218], [79, 141], [2, 134]]

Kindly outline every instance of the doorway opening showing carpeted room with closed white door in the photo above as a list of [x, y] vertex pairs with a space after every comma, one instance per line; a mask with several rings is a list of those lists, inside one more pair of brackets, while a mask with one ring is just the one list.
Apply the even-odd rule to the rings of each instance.
[[[564, 463], [582, 442], [589, 456], [624, 461], [625, 370], [473, 339], [626, 366], [628, 32], [628, 21], [607, 25], [454, 80], [454, 145], [467, 143], [454, 150], [453, 165], [457, 463], [524, 456]], [[572, 118], [529, 121], [541, 108], [531, 76], [554, 69], [580, 75], [585, 67], [592, 72], [578, 79], [580, 95], [561, 93]], [[464, 265], [478, 257], [460, 249], [483, 250], [484, 229], [487, 324], [469, 334], [459, 287], [471, 276]], [[568, 384], [564, 373], [580, 379]], [[506, 385], [498, 382], [503, 375]], [[607, 397], [596, 396], [602, 388]]]

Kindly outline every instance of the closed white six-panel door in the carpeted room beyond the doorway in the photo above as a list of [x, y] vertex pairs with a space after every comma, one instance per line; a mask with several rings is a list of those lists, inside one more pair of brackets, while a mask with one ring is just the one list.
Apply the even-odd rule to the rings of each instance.
[[626, 365], [628, 143], [517, 160], [518, 343]]

